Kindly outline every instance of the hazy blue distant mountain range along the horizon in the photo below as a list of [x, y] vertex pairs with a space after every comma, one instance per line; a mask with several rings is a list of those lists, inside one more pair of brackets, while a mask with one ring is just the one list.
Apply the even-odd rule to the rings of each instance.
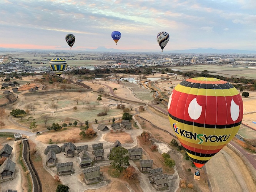
[[[2, 48], [0, 47], [0, 52], [20, 52], [20, 51], [58, 51], [58, 52], [67, 52], [67, 50], [35, 50], [35, 49], [12, 49], [12, 48]], [[98, 47], [96, 49], [85, 49], [80, 51], [74, 51], [74, 52], [130, 52], [130, 53], [161, 53], [161, 50], [159, 51], [152, 51], [152, 50], [119, 50], [119, 49], [113, 49], [113, 48], [105, 48], [105, 47]], [[188, 50], [174, 50], [174, 51], [167, 51], [164, 50], [163, 53], [218, 53], [218, 54], [256, 54], [256, 51], [250, 51], [250, 50], [233, 50], [233, 49], [213, 49], [213, 48], [198, 48], [198, 49], [188, 49]]]

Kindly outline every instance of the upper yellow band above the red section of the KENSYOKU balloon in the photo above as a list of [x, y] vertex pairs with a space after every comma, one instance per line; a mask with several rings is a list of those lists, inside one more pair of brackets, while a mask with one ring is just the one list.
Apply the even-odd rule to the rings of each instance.
[[176, 91], [186, 93], [186, 94], [193, 94], [193, 95], [202, 95], [202, 96], [234, 96], [239, 94], [236, 88], [231, 89], [198, 89], [198, 88], [190, 88], [183, 85], [178, 84], [175, 87]]

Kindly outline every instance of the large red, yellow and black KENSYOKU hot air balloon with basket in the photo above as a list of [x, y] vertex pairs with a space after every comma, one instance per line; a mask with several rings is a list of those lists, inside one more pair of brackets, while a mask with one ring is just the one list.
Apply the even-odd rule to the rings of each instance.
[[181, 145], [194, 165], [201, 168], [238, 132], [243, 101], [236, 88], [226, 81], [186, 79], [171, 93], [168, 114]]

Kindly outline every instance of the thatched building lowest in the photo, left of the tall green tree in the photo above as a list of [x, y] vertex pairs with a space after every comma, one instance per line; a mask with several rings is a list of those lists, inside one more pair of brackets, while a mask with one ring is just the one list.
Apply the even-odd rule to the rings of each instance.
[[86, 185], [101, 181], [100, 166], [83, 169], [83, 174], [85, 174], [84, 181]]

